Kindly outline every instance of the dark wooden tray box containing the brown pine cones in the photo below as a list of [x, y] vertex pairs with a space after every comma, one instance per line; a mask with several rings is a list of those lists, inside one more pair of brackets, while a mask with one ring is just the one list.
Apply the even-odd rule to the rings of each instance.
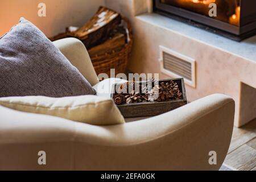
[[[164, 102], [142, 102], [142, 103], [131, 103], [131, 104], [123, 104], [117, 105], [118, 109], [121, 111], [123, 117], [125, 118], [134, 118], [134, 117], [147, 117], [147, 116], [154, 116], [166, 113], [170, 110], [176, 109], [177, 107], [183, 106], [187, 104], [187, 95], [185, 91], [185, 84], [183, 78], [171, 78], [165, 80], [159, 80], [160, 82], [167, 82], [167, 81], [175, 81], [179, 86], [180, 92], [183, 94], [183, 98], [180, 100], [171, 100], [171, 101], [164, 101]], [[121, 84], [114, 84], [113, 85], [113, 92], [112, 98], [115, 96], [116, 86]]]

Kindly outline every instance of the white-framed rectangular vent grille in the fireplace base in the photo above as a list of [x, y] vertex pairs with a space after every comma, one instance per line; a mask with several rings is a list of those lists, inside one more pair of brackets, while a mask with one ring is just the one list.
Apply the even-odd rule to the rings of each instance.
[[183, 77], [186, 84], [196, 87], [195, 59], [160, 46], [159, 61], [163, 73], [171, 77]]

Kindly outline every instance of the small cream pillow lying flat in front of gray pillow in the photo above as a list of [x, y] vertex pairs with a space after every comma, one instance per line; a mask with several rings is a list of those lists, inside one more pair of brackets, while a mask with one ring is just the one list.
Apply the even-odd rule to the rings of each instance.
[[93, 95], [72, 97], [2, 97], [0, 105], [27, 113], [46, 114], [90, 125], [117, 125], [125, 119], [114, 101]]

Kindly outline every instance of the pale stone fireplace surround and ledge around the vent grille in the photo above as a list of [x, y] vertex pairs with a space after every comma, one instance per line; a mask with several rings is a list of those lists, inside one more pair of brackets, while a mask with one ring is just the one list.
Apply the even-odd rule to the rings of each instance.
[[159, 46], [170, 48], [196, 60], [196, 87], [186, 85], [189, 101], [227, 94], [236, 101], [235, 126], [256, 118], [256, 36], [234, 42], [152, 13], [151, 0], [105, 0], [105, 5], [133, 25], [131, 71], [170, 77], [160, 71], [158, 61]]

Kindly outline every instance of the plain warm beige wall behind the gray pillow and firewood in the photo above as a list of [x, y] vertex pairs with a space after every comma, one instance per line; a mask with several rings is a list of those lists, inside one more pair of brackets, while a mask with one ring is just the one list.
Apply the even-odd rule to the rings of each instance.
[[[46, 17], [38, 16], [38, 4], [46, 3]], [[30, 20], [47, 36], [63, 32], [67, 26], [81, 26], [104, 0], [0, 0], [0, 36], [18, 23]]]

